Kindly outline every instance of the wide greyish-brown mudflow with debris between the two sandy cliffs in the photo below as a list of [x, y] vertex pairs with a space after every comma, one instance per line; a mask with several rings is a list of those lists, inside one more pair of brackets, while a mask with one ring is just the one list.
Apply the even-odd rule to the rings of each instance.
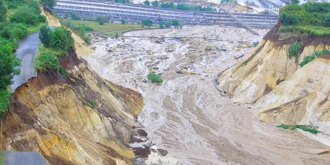
[[[329, 163], [327, 154], [315, 155], [325, 145], [261, 122], [253, 105], [233, 103], [216, 89], [216, 76], [234, 65], [236, 56], [247, 55], [267, 30], [258, 32], [220, 26], [132, 31], [125, 35], [218, 40], [95, 37], [96, 53], [84, 58], [107, 80], [142, 93], [145, 106], [138, 122], [152, 148], [168, 151], [167, 156], [152, 152], [148, 165]], [[149, 72], [161, 73], [163, 83], [143, 82]]]

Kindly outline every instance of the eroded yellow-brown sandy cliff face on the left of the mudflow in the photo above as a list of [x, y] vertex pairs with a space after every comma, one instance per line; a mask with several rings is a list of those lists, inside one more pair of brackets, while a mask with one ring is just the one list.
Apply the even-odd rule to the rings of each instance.
[[2, 121], [2, 148], [40, 152], [51, 165], [132, 164], [123, 143], [142, 96], [100, 78], [73, 49], [61, 64], [69, 77], [39, 72], [16, 89]]

